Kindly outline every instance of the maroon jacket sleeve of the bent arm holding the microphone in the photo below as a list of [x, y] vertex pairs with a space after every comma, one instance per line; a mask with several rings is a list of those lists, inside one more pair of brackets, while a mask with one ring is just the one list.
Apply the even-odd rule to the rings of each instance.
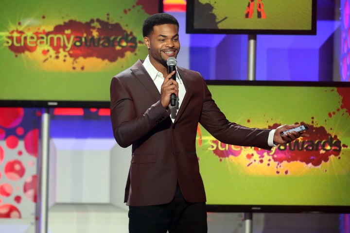
[[[128, 147], [169, 116], [158, 100], [137, 116], [132, 86], [119, 77], [110, 85], [110, 110], [113, 135], [121, 147]], [[140, 104], [140, 103], [139, 103]]]

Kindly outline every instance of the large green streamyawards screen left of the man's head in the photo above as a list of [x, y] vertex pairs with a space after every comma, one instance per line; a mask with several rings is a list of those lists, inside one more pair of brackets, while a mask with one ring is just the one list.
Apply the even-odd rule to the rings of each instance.
[[142, 22], [161, 5], [160, 0], [1, 1], [0, 105], [107, 103], [112, 77], [148, 54]]

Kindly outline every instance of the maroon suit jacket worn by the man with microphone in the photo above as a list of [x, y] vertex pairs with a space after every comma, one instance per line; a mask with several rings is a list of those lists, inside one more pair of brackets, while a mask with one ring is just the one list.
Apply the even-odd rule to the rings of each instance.
[[177, 182], [187, 201], [206, 201], [195, 148], [198, 122], [223, 143], [271, 150], [269, 130], [229, 122], [211, 99], [203, 77], [181, 67], [177, 71], [186, 95], [173, 123], [142, 62], [113, 77], [110, 86], [114, 137], [122, 147], [132, 145], [124, 199], [127, 205], [168, 203]]

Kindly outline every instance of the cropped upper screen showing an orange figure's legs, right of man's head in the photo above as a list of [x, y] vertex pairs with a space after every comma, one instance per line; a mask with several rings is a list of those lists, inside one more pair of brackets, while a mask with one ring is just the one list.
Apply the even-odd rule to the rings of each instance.
[[316, 0], [193, 0], [187, 33], [315, 34]]

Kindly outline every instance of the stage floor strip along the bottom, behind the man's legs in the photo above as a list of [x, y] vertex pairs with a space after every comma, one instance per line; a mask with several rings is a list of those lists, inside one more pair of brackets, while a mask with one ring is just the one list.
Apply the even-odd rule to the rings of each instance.
[[[339, 233], [337, 214], [253, 214], [254, 233]], [[244, 213], [208, 213], [208, 233], [245, 233]], [[54, 204], [47, 233], [128, 233], [127, 207]], [[342, 231], [340, 231], [343, 233]], [[31, 219], [0, 218], [0, 233], [35, 233]]]

